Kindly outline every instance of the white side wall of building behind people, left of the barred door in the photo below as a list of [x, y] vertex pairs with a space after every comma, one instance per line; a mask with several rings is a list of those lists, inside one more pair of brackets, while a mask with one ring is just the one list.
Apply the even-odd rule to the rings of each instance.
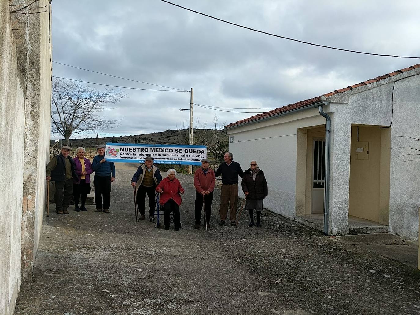
[[[325, 119], [318, 114], [318, 109], [313, 108], [228, 130], [229, 136], [234, 136], [234, 143], [229, 143], [229, 151], [234, 154], [234, 160], [245, 171], [249, 168], [249, 162], [256, 159], [265, 173], [268, 197], [264, 199], [264, 207], [288, 218], [295, 217], [297, 129], [323, 123]], [[281, 137], [247, 141], [274, 136]], [[244, 197], [241, 189], [239, 194]]]

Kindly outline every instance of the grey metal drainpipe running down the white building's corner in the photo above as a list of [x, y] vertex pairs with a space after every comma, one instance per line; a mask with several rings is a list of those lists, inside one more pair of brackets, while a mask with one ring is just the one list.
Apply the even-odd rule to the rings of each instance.
[[331, 118], [324, 113], [323, 105], [328, 105], [329, 100], [324, 95], [321, 96], [323, 104], [318, 105], [318, 111], [325, 118], [325, 189], [324, 189], [324, 234], [328, 235], [328, 205], [330, 196], [330, 148], [331, 148]]

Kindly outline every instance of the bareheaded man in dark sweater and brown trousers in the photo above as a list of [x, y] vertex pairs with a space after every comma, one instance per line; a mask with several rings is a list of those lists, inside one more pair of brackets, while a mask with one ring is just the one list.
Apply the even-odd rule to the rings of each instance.
[[226, 217], [231, 218], [231, 226], [236, 226], [236, 206], [238, 205], [238, 181], [239, 176], [244, 176], [241, 165], [234, 162], [234, 155], [231, 152], [226, 152], [223, 157], [225, 160], [219, 165], [215, 176], [222, 175], [222, 187], [220, 188], [220, 223], [219, 226], [225, 225]]

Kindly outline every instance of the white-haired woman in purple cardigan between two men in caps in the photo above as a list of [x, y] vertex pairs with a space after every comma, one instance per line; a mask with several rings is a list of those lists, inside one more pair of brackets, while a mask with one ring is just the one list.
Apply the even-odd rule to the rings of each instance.
[[[85, 150], [83, 147], [76, 149], [77, 156], [74, 158], [75, 171], [77, 179], [73, 181], [73, 196], [74, 196], [74, 211], [87, 211], [84, 206], [86, 202], [86, 195], [90, 194], [90, 174], [93, 172], [92, 163], [84, 157]], [[81, 198], [81, 205], [79, 208], [79, 199]]]

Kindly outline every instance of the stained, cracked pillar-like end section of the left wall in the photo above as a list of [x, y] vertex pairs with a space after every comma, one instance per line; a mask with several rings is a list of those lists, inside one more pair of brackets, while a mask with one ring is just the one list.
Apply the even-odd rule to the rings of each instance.
[[[48, 5], [46, 0], [41, 6]], [[25, 156], [22, 213], [22, 281], [30, 280], [45, 207], [45, 165], [49, 158], [51, 51], [49, 13], [30, 15], [22, 25], [26, 54], [18, 61], [26, 81]]]

